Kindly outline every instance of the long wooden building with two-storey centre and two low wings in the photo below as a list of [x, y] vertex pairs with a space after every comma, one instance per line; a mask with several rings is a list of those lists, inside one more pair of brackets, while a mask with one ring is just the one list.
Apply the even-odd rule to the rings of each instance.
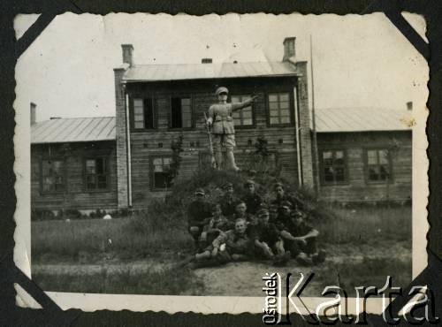
[[207, 163], [203, 113], [217, 103], [220, 86], [232, 102], [258, 95], [233, 116], [239, 164], [264, 138], [281, 175], [324, 201], [408, 202], [409, 111], [316, 110], [312, 131], [307, 63], [295, 60], [294, 37], [283, 45], [280, 62], [135, 65], [133, 46], [123, 44], [123, 65], [114, 69], [115, 118], [32, 124], [32, 208], [141, 209], [163, 197], [173, 141], [182, 135], [180, 178]]

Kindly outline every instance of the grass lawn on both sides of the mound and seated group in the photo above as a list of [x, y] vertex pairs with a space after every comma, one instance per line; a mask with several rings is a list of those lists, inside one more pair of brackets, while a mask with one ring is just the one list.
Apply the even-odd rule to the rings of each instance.
[[[387, 275], [393, 277], [394, 285], [408, 285], [410, 207], [327, 210], [335, 215], [316, 217], [310, 222], [321, 232], [320, 243], [328, 252], [327, 261], [316, 268], [318, 286], [330, 285], [331, 276], [336, 275], [340, 285], [350, 291], [357, 285], [380, 287]], [[56, 267], [34, 270], [34, 280], [50, 291], [205, 295], [207, 281], [201, 280], [194, 270], [177, 265], [193, 252], [193, 241], [187, 233], [185, 218], [176, 222], [150, 218], [147, 214], [112, 220], [33, 222], [33, 264]], [[154, 269], [137, 269], [143, 262], [154, 262]], [[113, 269], [112, 265], [123, 268]], [[81, 270], [95, 266], [96, 270]], [[73, 268], [66, 272], [66, 267]], [[218, 271], [232, 273], [232, 267], [213, 273]], [[251, 276], [256, 271], [246, 265], [243, 273]], [[223, 278], [215, 279], [221, 284]], [[216, 289], [215, 294], [248, 294], [248, 289], [259, 289], [252, 281], [236, 290], [224, 289], [225, 285], [217, 285], [217, 280], [209, 282], [210, 288]]]

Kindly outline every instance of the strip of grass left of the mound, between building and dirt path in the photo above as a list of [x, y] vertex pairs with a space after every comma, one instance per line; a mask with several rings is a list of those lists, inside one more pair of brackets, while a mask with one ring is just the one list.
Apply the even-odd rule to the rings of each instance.
[[[140, 222], [142, 220], [142, 222]], [[103, 257], [135, 259], [180, 255], [192, 247], [185, 224], [160, 224], [144, 217], [32, 223], [36, 262], [96, 262]]]

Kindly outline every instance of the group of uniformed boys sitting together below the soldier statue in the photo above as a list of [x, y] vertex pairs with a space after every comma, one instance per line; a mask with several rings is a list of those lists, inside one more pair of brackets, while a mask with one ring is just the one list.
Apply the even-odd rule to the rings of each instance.
[[324, 251], [316, 247], [319, 232], [306, 223], [302, 202], [286, 194], [284, 186], [274, 186], [274, 199], [263, 202], [248, 180], [246, 195], [235, 196], [232, 183], [223, 186], [225, 194], [210, 204], [198, 188], [187, 210], [188, 231], [197, 253], [194, 262], [217, 265], [230, 261], [271, 260], [284, 265], [294, 258], [303, 265], [324, 262]]

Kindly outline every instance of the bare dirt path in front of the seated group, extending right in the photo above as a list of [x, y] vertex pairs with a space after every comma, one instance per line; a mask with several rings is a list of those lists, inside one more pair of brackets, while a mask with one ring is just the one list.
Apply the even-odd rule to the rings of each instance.
[[[365, 252], [361, 252], [364, 250]], [[285, 283], [287, 273], [292, 273], [290, 285], [295, 285], [301, 278], [307, 278], [310, 273], [315, 276], [303, 291], [304, 296], [320, 297], [324, 285], [342, 285], [339, 282], [339, 274], [342, 274], [337, 267], [343, 263], [361, 265], [362, 262], [377, 259], [379, 261], [389, 260], [392, 255], [401, 262], [411, 262], [411, 253], [400, 245], [390, 247], [390, 251], [379, 254], [378, 248], [357, 248], [327, 247], [329, 256], [324, 263], [315, 267], [302, 267], [293, 259], [285, 267], [275, 267], [269, 262], [230, 262], [222, 267], [203, 268], [195, 270], [195, 274], [202, 279], [205, 285], [204, 295], [241, 295], [241, 296], [263, 296], [263, 277], [265, 273], [278, 272]], [[346, 253], [348, 255], [342, 255]], [[362, 253], [364, 255], [362, 255]], [[370, 267], [367, 267], [369, 269]], [[410, 280], [411, 281], [411, 280]], [[285, 285], [285, 284], [284, 284]], [[292, 286], [292, 287], [293, 287]]]

